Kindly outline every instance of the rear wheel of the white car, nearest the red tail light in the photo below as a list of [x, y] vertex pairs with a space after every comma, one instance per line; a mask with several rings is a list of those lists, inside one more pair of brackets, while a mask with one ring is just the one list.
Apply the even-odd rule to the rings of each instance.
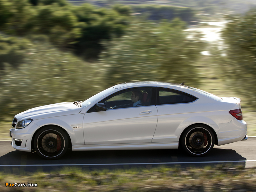
[[214, 146], [214, 134], [204, 125], [195, 125], [187, 129], [181, 137], [181, 147], [189, 155], [201, 157], [209, 153]]

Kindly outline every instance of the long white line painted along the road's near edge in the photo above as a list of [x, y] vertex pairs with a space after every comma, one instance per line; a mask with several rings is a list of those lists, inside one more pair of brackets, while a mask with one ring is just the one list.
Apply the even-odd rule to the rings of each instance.
[[256, 162], [256, 160], [240, 161], [198, 161], [198, 162], [166, 162], [166, 163], [105, 163], [105, 164], [31, 164], [31, 165], [0, 165], [0, 167], [26, 167], [26, 166], [99, 166], [99, 165], [153, 165], [153, 164], [200, 164], [200, 163], [246, 163]]

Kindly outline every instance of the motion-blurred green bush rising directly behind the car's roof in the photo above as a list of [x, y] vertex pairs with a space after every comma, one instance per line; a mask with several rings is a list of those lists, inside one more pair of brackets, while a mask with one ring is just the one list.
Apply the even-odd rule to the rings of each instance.
[[135, 80], [198, 83], [194, 64], [203, 44], [188, 39], [184, 22], [134, 22], [129, 32], [116, 38], [101, 55], [109, 85]]

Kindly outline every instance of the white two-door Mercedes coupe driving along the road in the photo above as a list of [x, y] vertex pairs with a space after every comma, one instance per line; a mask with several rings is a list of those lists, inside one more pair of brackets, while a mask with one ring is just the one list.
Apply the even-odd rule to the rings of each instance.
[[182, 84], [133, 82], [84, 101], [36, 107], [16, 115], [12, 147], [57, 159], [83, 150], [177, 149], [204, 156], [214, 144], [247, 139], [240, 99]]

